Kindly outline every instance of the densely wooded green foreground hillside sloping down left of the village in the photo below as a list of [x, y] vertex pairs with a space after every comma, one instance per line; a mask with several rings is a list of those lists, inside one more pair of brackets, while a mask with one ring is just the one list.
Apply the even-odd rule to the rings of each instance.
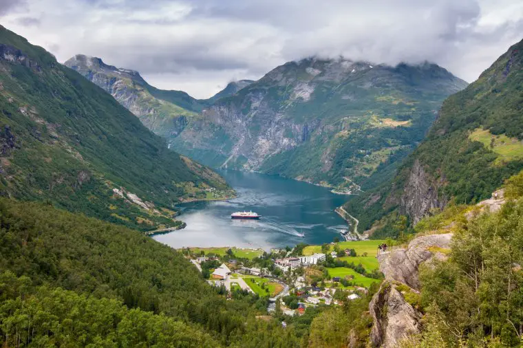
[[299, 345], [168, 246], [45, 204], [0, 199], [0, 269], [2, 347]]

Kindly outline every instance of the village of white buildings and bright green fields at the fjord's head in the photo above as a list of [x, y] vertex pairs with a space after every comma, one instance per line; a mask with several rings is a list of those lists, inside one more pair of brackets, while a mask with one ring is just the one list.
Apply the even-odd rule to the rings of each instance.
[[354, 301], [381, 283], [376, 254], [384, 241], [333, 241], [295, 248], [182, 248], [209, 284], [228, 296], [255, 294], [269, 312], [303, 315], [308, 308]]

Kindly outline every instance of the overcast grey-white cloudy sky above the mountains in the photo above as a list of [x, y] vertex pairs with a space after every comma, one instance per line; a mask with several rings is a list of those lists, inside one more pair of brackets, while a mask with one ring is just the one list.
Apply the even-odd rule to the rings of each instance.
[[306, 56], [432, 61], [471, 82], [523, 39], [522, 0], [0, 0], [0, 23], [208, 98]]

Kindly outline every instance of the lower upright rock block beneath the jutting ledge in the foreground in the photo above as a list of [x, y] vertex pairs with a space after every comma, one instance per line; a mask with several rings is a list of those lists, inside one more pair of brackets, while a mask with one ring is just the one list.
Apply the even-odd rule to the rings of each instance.
[[384, 282], [369, 305], [374, 320], [370, 340], [372, 347], [396, 347], [409, 335], [420, 332], [421, 314], [409, 305], [395, 285]]

